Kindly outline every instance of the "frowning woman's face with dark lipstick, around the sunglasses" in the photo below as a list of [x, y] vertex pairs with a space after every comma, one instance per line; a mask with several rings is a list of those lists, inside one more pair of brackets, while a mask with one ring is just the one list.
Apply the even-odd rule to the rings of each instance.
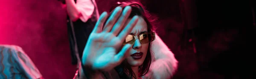
[[[126, 22], [129, 23], [131, 19], [128, 19]], [[145, 32], [148, 32], [147, 23], [143, 19], [143, 17], [139, 17], [139, 20], [137, 24], [134, 26], [134, 28], [131, 31], [131, 35], [134, 35], [136, 38], [140, 36], [140, 34], [143, 34]], [[143, 64], [145, 57], [148, 52], [148, 44], [149, 43], [141, 43], [139, 39], [136, 39], [132, 50], [130, 51], [130, 55], [126, 58], [127, 62], [133, 66], [140, 66]]]

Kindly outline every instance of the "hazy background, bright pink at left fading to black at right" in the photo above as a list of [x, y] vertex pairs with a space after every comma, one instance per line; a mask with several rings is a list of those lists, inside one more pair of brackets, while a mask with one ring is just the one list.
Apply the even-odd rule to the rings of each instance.
[[[96, 0], [99, 13], [117, 1], [126, 0]], [[158, 17], [157, 33], [179, 61], [173, 79], [255, 78], [255, 1], [141, 2]], [[45, 79], [73, 78], [61, 2], [1, 0], [0, 10], [0, 44], [22, 47]]]

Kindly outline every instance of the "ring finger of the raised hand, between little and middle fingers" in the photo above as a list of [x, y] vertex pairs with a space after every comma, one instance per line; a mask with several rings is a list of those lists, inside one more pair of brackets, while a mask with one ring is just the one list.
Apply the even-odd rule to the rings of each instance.
[[103, 31], [109, 32], [111, 28], [113, 27], [114, 23], [116, 22], [117, 18], [122, 12], [121, 7], [116, 7], [111, 16], [108, 18], [108, 21], [105, 24], [105, 27], [103, 28]]

